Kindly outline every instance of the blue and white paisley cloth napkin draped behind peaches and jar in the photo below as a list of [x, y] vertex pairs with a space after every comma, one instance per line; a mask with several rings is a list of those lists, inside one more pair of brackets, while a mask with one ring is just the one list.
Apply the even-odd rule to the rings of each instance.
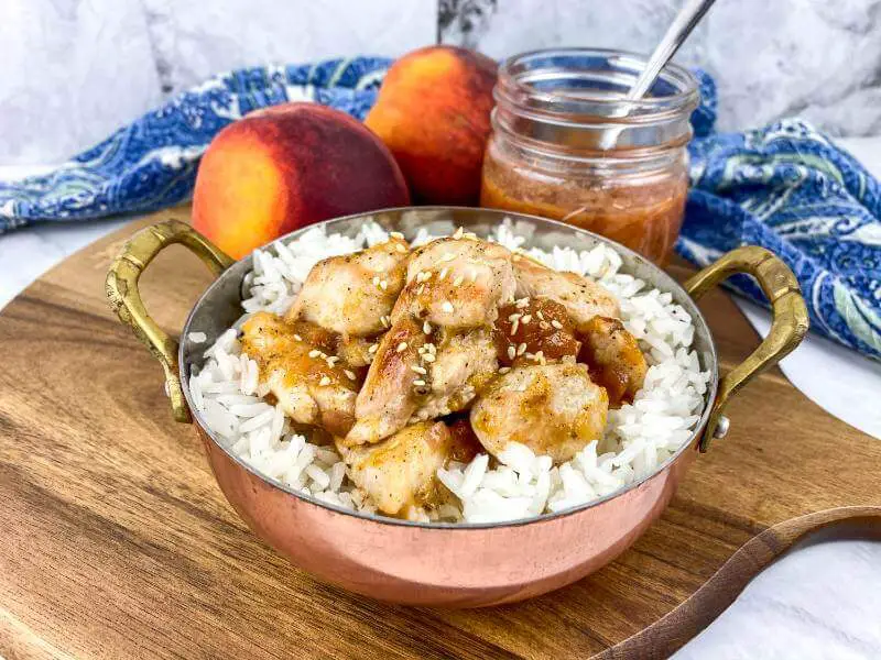
[[[0, 233], [36, 220], [142, 213], [187, 199], [211, 138], [252, 110], [309, 100], [363, 119], [391, 61], [231, 72], [185, 91], [54, 172], [0, 183]], [[704, 266], [742, 244], [779, 254], [798, 277], [813, 330], [881, 360], [881, 186], [798, 120], [716, 133], [716, 88], [697, 72], [692, 190], [679, 254]], [[764, 304], [746, 276], [731, 286]]]

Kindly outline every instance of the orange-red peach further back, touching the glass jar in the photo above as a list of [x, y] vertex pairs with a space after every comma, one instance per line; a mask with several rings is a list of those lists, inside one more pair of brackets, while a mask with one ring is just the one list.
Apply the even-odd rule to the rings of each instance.
[[496, 63], [454, 46], [392, 65], [365, 123], [389, 146], [414, 199], [477, 205], [490, 132]]

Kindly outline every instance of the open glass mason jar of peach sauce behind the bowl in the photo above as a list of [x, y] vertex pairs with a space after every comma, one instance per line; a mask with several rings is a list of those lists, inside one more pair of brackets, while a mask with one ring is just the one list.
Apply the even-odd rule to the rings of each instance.
[[563, 48], [502, 63], [480, 204], [562, 220], [665, 264], [688, 191], [697, 80], [667, 65], [624, 101], [640, 55]]

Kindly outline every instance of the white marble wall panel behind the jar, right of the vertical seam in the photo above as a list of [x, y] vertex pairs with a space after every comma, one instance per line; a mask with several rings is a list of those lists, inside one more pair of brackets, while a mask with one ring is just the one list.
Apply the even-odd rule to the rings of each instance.
[[[644, 53], [682, 3], [442, 0], [442, 37], [494, 57], [588, 45]], [[879, 10], [881, 0], [720, 1], [676, 57], [716, 77], [721, 130], [802, 114], [834, 135], [874, 135], [881, 130]]]

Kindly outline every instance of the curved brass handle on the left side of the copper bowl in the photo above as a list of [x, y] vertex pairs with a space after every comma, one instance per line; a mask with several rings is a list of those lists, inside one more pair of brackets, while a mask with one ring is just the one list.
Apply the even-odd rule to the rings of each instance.
[[172, 403], [174, 418], [177, 421], [191, 421], [177, 370], [177, 340], [168, 337], [150, 318], [138, 290], [141, 273], [153, 257], [175, 243], [188, 248], [215, 275], [235, 263], [188, 224], [180, 220], [166, 220], [142, 229], [126, 242], [110, 265], [105, 284], [111, 309], [123, 323], [131, 326], [134, 336], [162, 364], [165, 371], [165, 391]]

